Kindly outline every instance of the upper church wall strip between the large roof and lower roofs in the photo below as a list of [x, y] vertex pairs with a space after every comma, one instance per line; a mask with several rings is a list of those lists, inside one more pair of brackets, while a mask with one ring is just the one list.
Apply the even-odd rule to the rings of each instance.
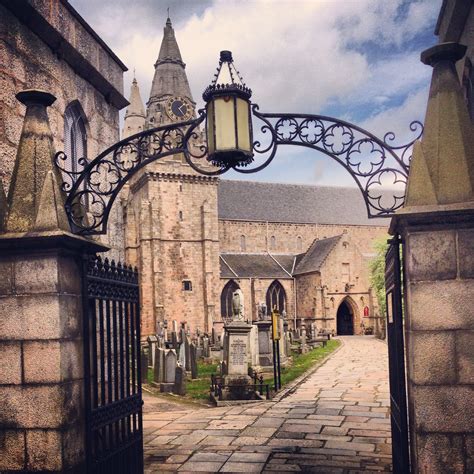
[[[221, 252], [241, 252], [241, 236], [245, 236], [247, 252], [298, 254], [308, 250], [314, 239], [324, 239], [347, 232], [362, 253], [373, 254], [373, 240], [387, 235], [387, 227], [333, 225], [333, 224], [291, 224], [275, 222], [248, 222], [219, 219], [219, 242]], [[271, 237], [275, 237], [272, 248]], [[301, 249], [298, 247], [301, 237]]]

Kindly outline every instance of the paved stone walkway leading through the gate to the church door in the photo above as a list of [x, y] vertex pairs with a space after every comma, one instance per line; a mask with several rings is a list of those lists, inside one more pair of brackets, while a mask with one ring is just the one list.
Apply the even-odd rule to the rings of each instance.
[[341, 339], [281, 401], [190, 409], [146, 397], [145, 472], [389, 472], [386, 345]]

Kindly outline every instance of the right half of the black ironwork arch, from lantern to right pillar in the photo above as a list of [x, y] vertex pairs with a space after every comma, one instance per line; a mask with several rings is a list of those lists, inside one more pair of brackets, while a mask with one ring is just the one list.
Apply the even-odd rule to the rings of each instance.
[[[268, 166], [280, 145], [297, 145], [322, 152], [342, 165], [362, 192], [369, 218], [390, 217], [403, 206], [411, 149], [423, 133], [421, 122], [410, 124], [415, 135], [395, 145], [395, 134], [383, 140], [357, 125], [323, 115], [260, 113], [252, 106], [255, 161], [235, 167], [255, 173]], [[258, 155], [261, 155], [260, 159]]]

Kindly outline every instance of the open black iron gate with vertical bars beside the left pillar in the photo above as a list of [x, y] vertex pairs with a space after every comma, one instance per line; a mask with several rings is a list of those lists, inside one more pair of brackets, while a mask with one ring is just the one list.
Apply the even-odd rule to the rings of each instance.
[[84, 267], [87, 472], [142, 473], [138, 272], [98, 256]]

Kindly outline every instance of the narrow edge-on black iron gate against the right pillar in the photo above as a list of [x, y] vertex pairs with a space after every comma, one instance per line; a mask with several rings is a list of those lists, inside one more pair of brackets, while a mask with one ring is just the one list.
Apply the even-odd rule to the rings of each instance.
[[385, 257], [385, 291], [387, 296], [387, 338], [390, 372], [390, 411], [392, 424], [393, 472], [409, 473], [408, 413], [405, 383], [405, 349], [403, 338], [401, 241], [389, 241]]

